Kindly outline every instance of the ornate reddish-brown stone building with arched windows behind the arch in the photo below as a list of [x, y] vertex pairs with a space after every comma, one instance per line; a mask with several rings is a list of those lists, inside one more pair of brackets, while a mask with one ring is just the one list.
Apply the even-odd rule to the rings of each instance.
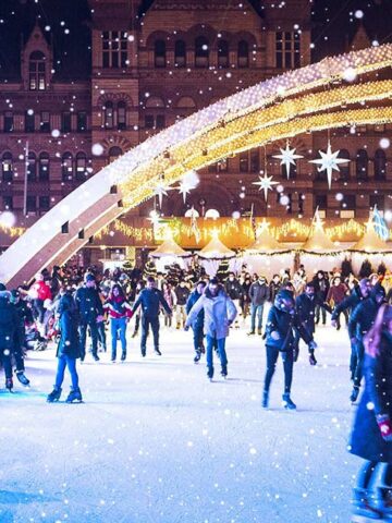
[[[72, 63], [68, 75], [59, 73], [51, 31], [41, 19], [21, 45], [20, 74], [2, 74], [0, 206], [13, 210], [20, 224], [32, 223], [151, 133], [313, 60], [308, 0], [88, 0], [88, 7], [83, 31], [91, 62], [85, 60], [82, 80], [74, 78]], [[369, 45], [359, 25], [340, 51]], [[186, 204], [170, 192], [161, 210], [184, 216], [193, 206], [200, 215], [213, 209], [231, 216], [253, 208], [258, 216], [285, 218], [309, 217], [319, 206], [330, 218], [366, 217], [375, 204], [388, 207], [392, 168], [380, 138], [390, 134], [385, 126], [331, 133], [332, 148], [351, 160], [331, 191], [324, 173], [308, 163], [327, 147], [326, 133], [314, 133], [291, 141], [304, 158], [290, 180], [273, 158], [285, 144], [274, 143], [222, 158], [200, 172]], [[266, 203], [253, 184], [266, 170], [284, 185], [283, 199], [274, 192]], [[128, 216], [148, 216], [156, 205], [148, 202]]]

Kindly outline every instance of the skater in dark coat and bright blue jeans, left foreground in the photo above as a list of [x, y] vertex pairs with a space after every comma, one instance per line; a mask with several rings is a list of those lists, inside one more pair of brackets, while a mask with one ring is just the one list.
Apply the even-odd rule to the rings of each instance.
[[78, 339], [78, 311], [71, 292], [66, 292], [59, 305], [60, 321], [60, 342], [57, 350], [58, 369], [56, 374], [53, 390], [48, 394], [47, 402], [59, 401], [62, 392], [62, 382], [64, 380], [65, 367], [71, 376], [71, 392], [66, 398], [66, 403], [82, 401], [82, 392], [78, 386], [78, 376], [76, 372], [76, 360], [81, 357], [81, 344]]

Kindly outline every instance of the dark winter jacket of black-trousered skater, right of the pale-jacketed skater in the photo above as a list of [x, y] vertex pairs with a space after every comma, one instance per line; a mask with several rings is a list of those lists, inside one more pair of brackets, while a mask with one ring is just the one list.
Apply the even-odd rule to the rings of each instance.
[[302, 326], [297, 314], [291, 315], [272, 305], [266, 326], [266, 345], [273, 346], [281, 352], [294, 350], [296, 346], [294, 328], [297, 329], [305, 343], [309, 344], [313, 341], [313, 336]]

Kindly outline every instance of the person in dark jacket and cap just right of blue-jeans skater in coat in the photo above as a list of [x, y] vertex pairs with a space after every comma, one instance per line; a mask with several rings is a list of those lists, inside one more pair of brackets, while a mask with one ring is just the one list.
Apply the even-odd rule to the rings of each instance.
[[98, 323], [103, 320], [103, 306], [96, 288], [95, 276], [87, 272], [85, 283], [77, 289], [75, 301], [79, 313], [81, 362], [86, 356], [87, 327], [91, 336], [91, 352], [96, 362], [98, 356]]

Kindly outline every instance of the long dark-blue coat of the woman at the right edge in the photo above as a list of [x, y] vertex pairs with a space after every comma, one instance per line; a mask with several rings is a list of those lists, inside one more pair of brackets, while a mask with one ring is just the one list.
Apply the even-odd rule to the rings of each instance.
[[[350, 441], [350, 452], [364, 460], [392, 464], [392, 442], [381, 437], [376, 416], [392, 418], [392, 338], [384, 332], [380, 354], [365, 356], [365, 391], [360, 398]], [[375, 405], [369, 409], [369, 405]]]

